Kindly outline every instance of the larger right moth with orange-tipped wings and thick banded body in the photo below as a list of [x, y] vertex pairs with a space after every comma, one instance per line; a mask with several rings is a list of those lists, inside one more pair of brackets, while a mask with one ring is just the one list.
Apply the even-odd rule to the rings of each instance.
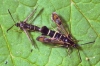
[[56, 23], [58, 30], [60, 32], [49, 30], [46, 26], [43, 26], [40, 30], [42, 35], [50, 36], [50, 38], [47, 38], [45, 36], [40, 36], [37, 38], [37, 40], [41, 42], [46, 42], [46, 43], [58, 44], [59, 46], [62, 46], [65, 48], [74, 47], [78, 49], [78, 53], [79, 53], [80, 47], [76, 44], [77, 42], [73, 40], [71, 35], [69, 35], [69, 32], [66, 32], [66, 30], [64, 29], [62, 25], [62, 21], [60, 17], [55, 12], [52, 13], [52, 20]]

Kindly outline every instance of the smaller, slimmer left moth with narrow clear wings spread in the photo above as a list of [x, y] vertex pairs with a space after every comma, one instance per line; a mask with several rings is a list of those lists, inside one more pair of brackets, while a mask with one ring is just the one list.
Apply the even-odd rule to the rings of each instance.
[[[27, 21], [28, 19], [34, 14], [34, 12], [36, 11], [36, 9], [24, 20], [24, 21], [20, 21], [19, 23], [16, 23], [10, 13], [10, 11], [8, 10], [11, 18], [13, 19], [13, 21], [15, 22], [15, 24], [13, 26], [16, 26], [16, 27], [19, 27], [21, 30], [23, 30], [27, 37], [29, 38], [29, 40], [31, 41], [31, 43], [34, 45], [34, 42], [32, 40], [32, 38], [30, 37], [30, 34], [29, 34], [29, 31], [39, 31], [39, 27], [35, 26], [35, 25], [31, 25], [31, 24], [28, 24]], [[11, 26], [7, 32], [13, 27]], [[34, 45], [35, 46], [35, 45]]]

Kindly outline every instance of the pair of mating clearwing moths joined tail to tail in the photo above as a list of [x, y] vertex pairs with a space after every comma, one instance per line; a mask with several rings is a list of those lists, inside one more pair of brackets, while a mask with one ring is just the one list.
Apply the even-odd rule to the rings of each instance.
[[[79, 46], [76, 44], [77, 41], [75, 41], [73, 39], [73, 37], [69, 34], [69, 32], [67, 32], [64, 29], [60, 17], [55, 12], [52, 13], [52, 20], [56, 23], [59, 32], [50, 30], [46, 26], [43, 26], [42, 28], [40, 28], [38, 26], [28, 24], [27, 23], [28, 19], [34, 14], [35, 11], [36, 11], [36, 9], [24, 21], [20, 21], [19, 23], [16, 23], [10, 13], [10, 11], [8, 10], [11, 18], [15, 22], [15, 24], [13, 26], [17, 26], [21, 30], [23, 30], [27, 34], [27, 36], [28, 36], [29, 40], [32, 42], [32, 44], [33, 44], [33, 41], [28, 32], [38, 31], [38, 32], [42, 33], [42, 36], [37, 37], [37, 40], [40, 42], [58, 44], [59, 46], [62, 46], [65, 48], [74, 47], [74, 48], [78, 49]], [[11, 26], [8, 30], [10, 30], [13, 26]], [[50, 38], [47, 38], [46, 36], [49, 36]], [[79, 52], [79, 49], [78, 49], [78, 52]]]

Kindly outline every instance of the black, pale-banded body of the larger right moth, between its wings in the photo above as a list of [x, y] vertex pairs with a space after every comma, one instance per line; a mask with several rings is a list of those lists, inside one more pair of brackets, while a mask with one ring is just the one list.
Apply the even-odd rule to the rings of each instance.
[[43, 26], [41, 28], [41, 33], [42, 33], [42, 35], [50, 36], [51, 38], [53, 38], [55, 40], [62, 41], [63, 44], [65, 44], [65, 43], [67, 43], [68, 45], [70, 45], [70, 43], [73, 44], [73, 42], [70, 41], [65, 35], [63, 35], [59, 32], [53, 31], [53, 30], [49, 30], [46, 26]]

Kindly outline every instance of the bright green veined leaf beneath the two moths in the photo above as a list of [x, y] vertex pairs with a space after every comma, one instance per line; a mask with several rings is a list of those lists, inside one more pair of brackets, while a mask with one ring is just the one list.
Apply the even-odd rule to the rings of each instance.
[[[38, 7], [37, 7], [38, 6]], [[38, 46], [34, 49], [24, 31], [14, 26], [14, 20], [23, 21], [37, 7], [32, 24], [56, 29], [51, 20], [52, 12], [61, 16], [64, 27], [78, 40], [68, 55], [67, 48], [54, 47], [36, 40], [39, 32], [31, 37]], [[99, 66], [100, 65], [100, 0], [0, 0], [0, 66]], [[53, 29], [52, 29], [53, 30]], [[84, 43], [94, 43], [81, 45]], [[33, 50], [33, 51], [32, 51]]]

